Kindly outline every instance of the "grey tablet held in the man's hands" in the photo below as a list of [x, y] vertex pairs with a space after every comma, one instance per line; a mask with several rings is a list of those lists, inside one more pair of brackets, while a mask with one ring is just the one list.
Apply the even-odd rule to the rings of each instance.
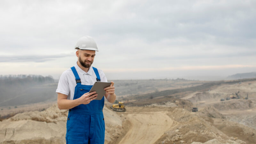
[[97, 98], [94, 100], [101, 100], [104, 94], [106, 93], [104, 91], [104, 88], [109, 87], [110, 85], [111, 83], [107, 82], [95, 82], [90, 90], [90, 92], [96, 91], [96, 93], [98, 94]]

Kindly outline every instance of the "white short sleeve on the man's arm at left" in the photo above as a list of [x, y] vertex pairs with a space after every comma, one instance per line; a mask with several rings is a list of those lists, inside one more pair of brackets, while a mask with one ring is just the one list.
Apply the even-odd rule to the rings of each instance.
[[68, 76], [66, 71], [62, 73], [60, 76], [59, 84], [56, 90], [57, 93], [62, 93], [68, 95], [70, 92], [69, 84], [68, 84]]

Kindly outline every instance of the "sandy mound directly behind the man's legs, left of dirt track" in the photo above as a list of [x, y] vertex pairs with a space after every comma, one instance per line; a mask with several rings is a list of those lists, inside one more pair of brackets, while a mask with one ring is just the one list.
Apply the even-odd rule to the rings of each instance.
[[[106, 107], [103, 114], [105, 143], [108, 143], [121, 131], [122, 120]], [[56, 104], [42, 112], [17, 114], [0, 122], [0, 143], [66, 143], [67, 116], [68, 110], [60, 110]]]

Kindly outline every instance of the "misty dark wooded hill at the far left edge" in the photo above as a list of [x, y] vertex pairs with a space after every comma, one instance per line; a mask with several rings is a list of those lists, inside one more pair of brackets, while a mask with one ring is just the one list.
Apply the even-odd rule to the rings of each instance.
[[57, 83], [52, 76], [0, 76], [0, 106], [18, 106], [56, 100]]

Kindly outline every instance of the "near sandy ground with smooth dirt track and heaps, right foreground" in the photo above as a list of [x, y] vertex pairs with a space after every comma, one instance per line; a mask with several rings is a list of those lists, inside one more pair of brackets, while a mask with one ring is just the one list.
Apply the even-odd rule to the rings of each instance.
[[228, 120], [214, 107], [198, 113], [161, 106], [127, 109], [117, 113], [125, 117], [127, 132], [110, 143], [256, 143], [255, 129]]

